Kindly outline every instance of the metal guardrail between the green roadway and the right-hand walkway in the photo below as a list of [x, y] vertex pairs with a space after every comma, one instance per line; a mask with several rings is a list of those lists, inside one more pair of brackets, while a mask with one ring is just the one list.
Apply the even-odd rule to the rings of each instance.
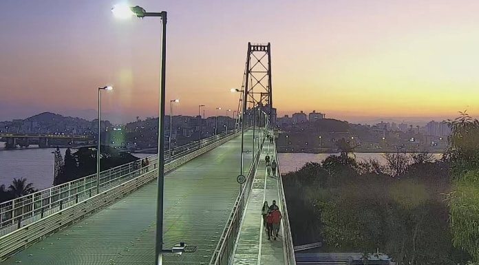
[[248, 195], [251, 192], [251, 186], [253, 186], [253, 180], [255, 178], [256, 168], [259, 162], [259, 155], [264, 145], [265, 135], [262, 136], [261, 145], [255, 156], [255, 160], [251, 161], [251, 166], [246, 176], [246, 182], [244, 182], [243, 189], [240, 194], [237, 195], [233, 211], [231, 211], [230, 218], [226, 222], [220, 242], [218, 242], [215, 252], [210, 259], [210, 265], [227, 265], [230, 262], [233, 250], [235, 248], [236, 237], [240, 233], [241, 220], [244, 211], [246, 211], [246, 201]]

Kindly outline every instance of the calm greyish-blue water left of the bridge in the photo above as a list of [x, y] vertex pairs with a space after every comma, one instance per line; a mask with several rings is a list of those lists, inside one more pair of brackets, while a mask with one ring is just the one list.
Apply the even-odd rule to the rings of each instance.
[[[3, 144], [3, 142], [2, 142]], [[65, 148], [61, 148], [62, 156]], [[47, 149], [0, 149], [0, 185], [10, 185], [14, 178], [27, 178], [36, 189], [52, 186], [55, 148]], [[144, 158], [148, 153], [135, 153], [134, 156]]]

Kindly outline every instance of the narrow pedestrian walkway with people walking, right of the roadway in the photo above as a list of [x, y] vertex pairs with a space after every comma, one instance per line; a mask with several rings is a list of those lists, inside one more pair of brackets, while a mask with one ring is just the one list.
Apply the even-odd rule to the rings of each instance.
[[[277, 178], [268, 177], [264, 157], [269, 153], [271, 161], [275, 157], [275, 145], [268, 141], [264, 143], [259, 160], [259, 167], [253, 180], [253, 189], [248, 198], [246, 212], [237, 242], [234, 265], [277, 265], [284, 264], [284, 237], [279, 231], [277, 240], [268, 240], [268, 234], [263, 227], [261, 209], [266, 200], [271, 205], [276, 200], [279, 209], [279, 191]], [[281, 220], [281, 222], [283, 222]]]

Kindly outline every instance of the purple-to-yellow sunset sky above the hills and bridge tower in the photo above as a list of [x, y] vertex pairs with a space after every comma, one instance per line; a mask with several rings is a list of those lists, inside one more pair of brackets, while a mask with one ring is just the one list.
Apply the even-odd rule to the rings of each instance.
[[[160, 19], [122, 1], [1, 0], [0, 120], [39, 112], [116, 123], [158, 116]], [[125, 2], [125, 1], [123, 1]], [[248, 41], [271, 43], [279, 116], [341, 120], [479, 114], [479, 1], [128, 1], [167, 10], [167, 99], [176, 114], [236, 109]]]

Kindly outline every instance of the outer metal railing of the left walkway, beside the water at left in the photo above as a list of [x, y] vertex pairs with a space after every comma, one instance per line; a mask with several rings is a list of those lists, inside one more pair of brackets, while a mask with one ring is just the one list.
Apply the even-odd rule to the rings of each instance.
[[[235, 134], [237, 130], [228, 135]], [[165, 161], [172, 164], [183, 163], [189, 153], [202, 149], [226, 138], [226, 133], [211, 136], [175, 149], [173, 156]], [[148, 157], [149, 167], [141, 167], [141, 159], [100, 172], [100, 193], [127, 180], [156, 169], [156, 155]], [[167, 167], [165, 167], [167, 171]], [[96, 195], [96, 174], [37, 191], [0, 204], [0, 237], [12, 233], [23, 226], [32, 224], [68, 206], [78, 204]]]

